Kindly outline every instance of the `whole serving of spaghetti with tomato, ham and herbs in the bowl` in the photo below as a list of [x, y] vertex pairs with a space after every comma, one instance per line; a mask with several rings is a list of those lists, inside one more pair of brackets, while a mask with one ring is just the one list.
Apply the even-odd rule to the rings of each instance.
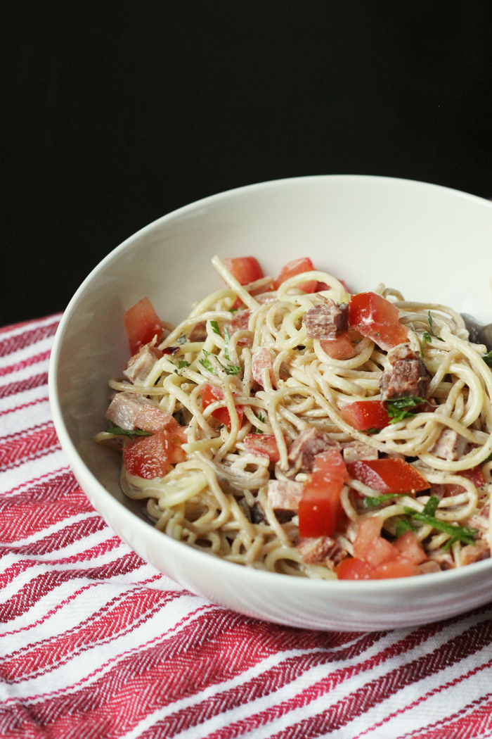
[[[148, 299], [96, 440], [156, 528], [246, 567], [392, 579], [490, 557], [492, 357], [459, 313], [347, 292], [311, 259], [226, 287], [176, 327]], [[142, 435], [145, 435], [142, 438]]]

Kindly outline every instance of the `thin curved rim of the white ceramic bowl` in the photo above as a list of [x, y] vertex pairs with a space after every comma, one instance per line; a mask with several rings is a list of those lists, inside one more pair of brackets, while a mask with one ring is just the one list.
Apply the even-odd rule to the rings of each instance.
[[[72, 442], [69, 432], [66, 429], [66, 424], [63, 420], [63, 413], [60, 406], [60, 397], [58, 392], [58, 367], [60, 360], [60, 350], [63, 345], [63, 338], [65, 336], [69, 321], [72, 319], [72, 316], [77, 309], [77, 304], [86, 293], [86, 290], [91, 285], [92, 280], [100, 273], [100, 271], [105, 270], [105, 268], [110, 265], [114, 259], [117, 259], [119, 257], [120, 253], [128, 248], [131, 248], [131, 246], [135, 242], [138, 242], [139, 239], [142, 238], [142, 236], [146, 236], [147, 234], [152, 233], [154, 229], [159, 228], [161, 225], [167, 222], [172, 222], [174, 219], [187, 215], [188, 213], [193, 213], [193, 211], [197, 210], [198, 208], [203, 208], [207, 205], [214, 205], [215, 202], [229, 200], [234, 197], [238, 197], [241, 194], [248, 194], [249, 192], [254, 191], [261, 193], [262, 191], [266, 191], [269, 189], [288, 187], [289, 185], [293, 185], [294, 183], [314, 183], [316, 181], [333, 182], [335, 180], [338, 180], [340, 182], [364, 180], [367, 183], [382, 183], [391, 181], [392, 183], [398, 183], [398, 186], [407, 188], [427, 188], [433, 191], [448, 191], [449, 193], [454, 194], [454, 196], [464, 198], [465, 200], [472, 200], [481, 205], [485, 205], [485, 207], [492, 208], [492, 202], [489, 200], [485, 200], [485, 198], [464, 191], [456, 190], [454, 188], [448, 188], [445, 185], [435, 185], [433, 183], [420, 182], [419, 180], [407, 180], [403, 177], [386, 177], [372, 174], [316, 174], [305, 175], [303, 177], [286, 177], [277, 180], [266, 180], [265, 182], [252, 183], [250, 185], [242, 185], [237, 188], [232, 188], [230, 190], [209, 195], [207, 197], [201, 198], [200, 200], [195, 200], [188, 203], [187, 205], [183, 205], [180, 208], [176, 208], [176, 210], [164, 214], [163, 216], [150, 222], [148, 225], [140, 228], [134, 234], [131, 234], [131, 236], [128, 236], [127, 239], [125, 239], [121, 244], [112, 249], [91, 270], [89, 275], [86, 276], [86, 279], [84, 279], [81, 283], [80, 287], [77, 288], [74, 295], [72, 296], [72, 299], [63, 312], [63, 315], [60, 319], [60, 324], [58, 325], [58, 329], [55, 333], [55, 339], [53, 341], [52, 351], [49, 359], [48, 372], [49, 404], [52, 411], [55, 431], [57, 432], [58, 438], [60, 440], [60, 445], [63, 449], [64, 454], [66, 454], [71, 470], [75, 473], [75, 477], [77, 477], [77, 481], [79, 481], [80, 483], [79, 476], [88, 479], [91, 483], [91, 488], [94, 491], [97, 491], [98, 497], [102, 497], [103, 500], [105, 500], [106, 505], [108, 505], [110, 508], [117, 508], [119, 514], [123, 515], [128, 520], [128, 522], [131, 522], [131, 524], [138, 529], [139, 534], [146, 535], [147, 538], [150, 537], [150, 539], [153, 539], [154, 537], [159, 537], [155, 539], [156, 543], [159, 543], [159, 541], [162, 542], [162, 539], [160, 539], [160, 537], [162, 535], [166, 537], [166, 535], [162, 531], [156, 529], [150, 521], [147, 522], [136, 516], [136, 514], [130, 511], [125, 505], [120, 503], [119, 500], [117, 500], [103, 486], [102, 483], [100, 483], [97, 477], [95, 477], [95, 475], [91, 472], [89, 467], [86, 466], [86, 463], [83, 461], [82, 457], [80, 457], [80, 454], [77, 452], [75, 444]], [[86, 494], [85, 491], [84, 494]], [[235, 562], [228, 562], [225, 559], [221, 559], [221, 557], [211, 555], [207, 552], [199, 551], [198, 549], [190, 547], [186, 543], [178, 541], [177, 539], [173, 539], [172, 537], [166, 537], [166, 545], [175, 550], [176, 554], [182, 554], [183, 548], [185, 548], [188, 557], [193, 559], [195, 556], [198, 556], [199, 561], [202, 563], [204, 562], [204, 556], [212, 556], [212, 561], [215, 562], [214, 568], [218, 568], [218, 571], [220, 572], [224, 571], [224, 575], [234, 576], [235, 573], [236, 579], [242, 579], [245, 585], [248, 584], [250, 581], [264, 581], [264, 585], [268, 585], [268, 583], [272, 584], [272, 578], [276, 580], [278, 585], [280, 585], [282, 582], [285, 584], [286, 582], [285, 574], [263, 571], [256, 568], [241, 567], [238, 566]], [[454, 582], [458, 583], [461, 580], [468, 579], [472, 576], [479, 576], [479, 573], [486, 573], [490, 571], [491, 568], [492, 558], [489, 558], [484, 559], [481, 562], [474, 562], [471, 565], [466, 565], [462, 568], [441, 571], [438, 573], [429, 573], [425, 576], [425, 578], [422, 578], [420, 576], [409, 576], [404, 578], [380, 580], [339, 580], [311, 579], [307, 577], [292, 576], [287, 582], [291, 582], [291, 584], [295, 588], [299, 588], [301, 593], [308, 593], [309, 591], [313, 591], [313, 593], [316, 594], [325, 593], [327, 596], [330, 596], [331, 593], [333, 593], [333, 595], [343, 594], [344, 596], [354, 596], [357, 593], [359, 593], [361, 596], [374, 596], [377, 593], [383, 594], [389, 590], [414, 591], [420, 590], [422, 588], [427, 589], [429, 586], [432, 588], [434, 587], [434, 584], [437, 585], [438, 582], [443, 583], [447, 581], [448, 585], [451, 585]], [[265, 578], [266, 580], [264, 580]]]

